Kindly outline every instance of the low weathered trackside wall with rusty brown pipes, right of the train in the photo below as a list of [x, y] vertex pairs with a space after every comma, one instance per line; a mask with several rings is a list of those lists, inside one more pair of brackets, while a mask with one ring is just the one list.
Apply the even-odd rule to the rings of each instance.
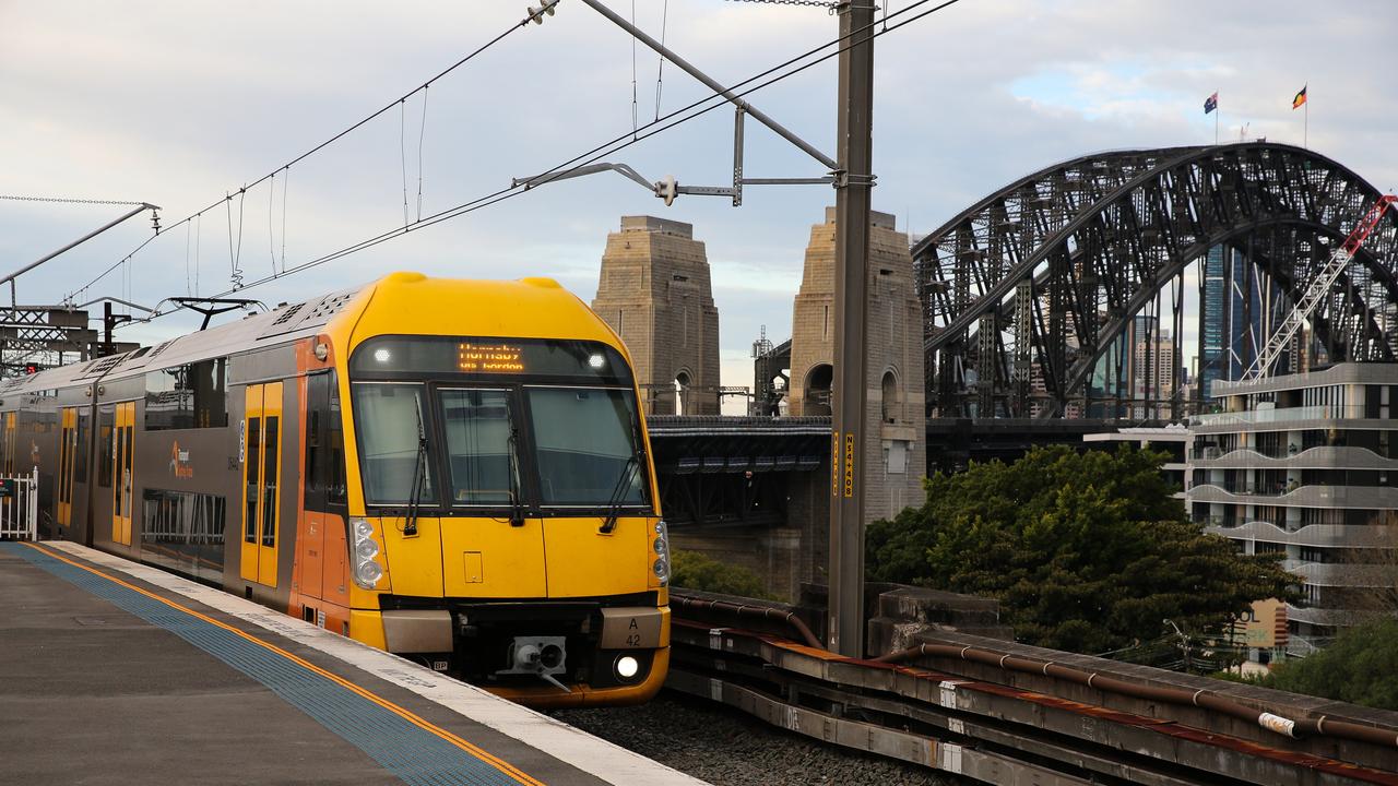
[[[1167, 712], [1134, 715], [1047, 695], [1014, 680], [840, 657], [812, 646], [809, 631], [752, 629], [777, 628], [791, 614], [759, 601], [749, 613], [761, 614], [738, 620], [733, 608], [686, 603], [682, 592], [671, 599], [668, 688], [846, 748], [987, 783], [1398, 785], [1398, 738], [1388, 752], [1376, 748], [1377, 761], [1346, 762], [1187, 726]], [[1335, 750], [1355, 750], [1348, 745]]]

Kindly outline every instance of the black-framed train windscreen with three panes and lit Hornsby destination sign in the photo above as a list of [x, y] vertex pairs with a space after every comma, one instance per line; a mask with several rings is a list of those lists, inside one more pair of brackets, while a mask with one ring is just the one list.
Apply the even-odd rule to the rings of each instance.
[[386, 336], [350, 361], [365, 503], [442, 515], [651, 508], [630, 369], [594, 341]]

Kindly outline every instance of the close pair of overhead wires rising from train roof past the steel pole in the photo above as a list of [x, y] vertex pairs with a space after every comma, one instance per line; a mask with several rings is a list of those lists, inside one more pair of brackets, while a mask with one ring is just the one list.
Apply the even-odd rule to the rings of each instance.
[[[916, 0], [914, 3], [910, 3], [906, 8], [902, 8], [900, 11], [896, 11], [895, 14], [889, 14], [889, 18], [892, 20], [892, 18], [895, 18], [898, 15], [907, 14], [907, 13], [916, 10], [916, 8], [927, 6], [931, 1], [932, 0]], [[878, 36], [882, 36], [882, 35], [886, 35], [886, 34], [891, 34], [891, 32], [895, 32], [899, 28], [903, 28], [903, 27], [906, 27], [906, 25], [909, 25], [911, 22], [923, 20], [923, 18], [925, 18], [925, 17], [928, 17], [931, 14], [935, 14], [935, 13], [944, 10], [944, 8], [955, 6], [959, 1], [960, 0], [944, 0], [942, 3], [938, 3], [937, 6], [932, 6], [931, 8], [927, 8], [927, 10], [921, 11], [921, 13], [918, 13], [918, 14], [913, 14], [911, 17], [899, 21], [898, 24], [886, 25], [885, 29], [879, 29], [879, 31], [874, 32], [870, 36], [870, 39], [878, 38]], [[815, 67], [815, 66], [818, 66], [818, 64], [821, 64], [821, 63], [823, 63], [823, 62], [826, 62], [826, 60], [829, 60], [832, 57], [837, 57], [842, 52], [846, 52], [846, 50], [851, 49], [853, 46], [857, 46], [858, 43], [844, 43], [844, 42], [847, 39], [854, 38], [857, 35], [861, 35], [861, 34], [864, 34], [864, 32], [867, 32], [867, 31], [870, 31], [870, 29], [872, 29], [875, 27], [877, 27], [877, 22], [871, 24], [871, 25], [861, 27], [861, 28], [854, 29], [854, 31], [850, 31], [849, 34], [846, 34], [843, 36], [839, 36], [839, 38], [835, 38], [835, 39], [828, 41], [825, 43], [821, 43], [819, 46], [815, 46], [815, 48], [812, 48], [812, 49], [809, 49], [807, 52], [802, 52], [801, 55], [790, 57], [790, 59], [787, 59], [787, 60], [784, 60], [784, 62], [781, 62], [781, 63], [779, 63], [776, 66], [772, 66], [772, 67], [769, 67], [769, 69], [766, 69], [766, 70], [763, 70], [763, 71], [761, 71], [758, 74], [754, 74], [754, 76], [751, 76], [751, 77], [748, 77], [748, 78], [745, 78], [745, 80], [742, 80], [740, 83], [735, 83], [734, 85], [730, 85], [726, 90], [728, 92], [734, 92], [737, 97], [741, 98], [744, 95], [749, 95], [752, 92], [756, 92], [756, 91], [759, 91], [759, 90], [762, 90], [765, 87], [776, 84], [776, 83], [779, 83], [781, 80], [790, 78], [790, 77], [793, 77], [793, 76], [795, 76], [798, 73], [802, 73], [802, 71], [805, 71], [805, 70], [808, 70], [811, 67]], [[797, 63], [801, 63], [802, 60], [814, 57], [815, 55], [821, 53], [825, 49], [829, 49], [830, 46], [836, 46], [836, 49], [833, 52], [821, 55], [819, 57], [815, 57], [814, 60], [811, 60], [808, 63], [804, 63], [804, 64], [801, 64], [798, 67], [794, 67], [790, 71], [784, 71], [784, 73], [776, 74], [777, 71], [783, 71], [784, 69], [791, 67], [791, 66], [794, 66]], [[772, 76], [772, 74], [776, 74], [776, 76]], [[754, 84], [754, 83], [758, 83], [759, 80], [763, 80], [766, 77], [772, 77], [772, 78], [768, 78], [766, 81], [761, 81], [759, 84]], [[706, 103], [709, 106], [705, 106]], [[719, 108], [727, 105], [727, 103], [728, 103], [727, 98], [724, 98], [720, 92], [713, 92], [713, 94], [710, 94], [710, 95], [707, 95], [705, 98], [693, 101], [693, 102], [688, 103], [686, 106], [682, 106], [682, 108], [679, 108], [679, 109], [677, 109], [677, 110], [674, 110], [674, 112], [663, 116], [660, 120], [647, 123], [646, 126], [640, 126], [640, 129], [637, 129], [637, 131], [640, 131], [640, 133], [626, 131], [624, 134], [619, 134], [619, 136], [614, 137], [612, 140], [608, 140], [608, 141], [605, 141], [603, 144], [598, 144], [598, 145], [593, 147], [591, 150], [589, 150], [589, 151], [586, 151], [583, 154], [579, 154], [579, 155], [576, 155], [576, 157], [573, 157], [573, 158], [570, 158], [568, 161], [563, 161], [562, 164], [558, 164], [554, 168], [547, 169], [541, 175], [533, 178], [527, 185], [526, 183], [520, 183], [517, 186], [502, 187], [502, 189], [495, 190], [492, 193], [480, 196], [480, 197], [477, 197], [474, 200], [456, 204], [456, 206], [449, 207], [446, 210], [440, 210], [440, 211], [438, 211], [435, 214], [431, 214], [431, 215], [428, 215], [425, 218], [421, 218], [419, 221], [412, 222], [410, 225], [394, 227], [393, 229], [384, 231], [384, 232], [382, 232], [379, 235], [375, 235], [372, 238], [366, 238], [363, 241], [352, 243], [350, 246], [344, 246], [344, 248], [341, 248], [338, 250], [326, 253], [323, 256], [310, 259], [310, 260], [303, 262], [301, 264], [296, 264], [294, 267], [287, 267], [278, 276], [267, 276], [267, 277], [254, 280], [252, 283], [245, 283], [242, 285], [225, 290], [225, 291], [222, 291], [222, 292], [219, 292], [217, 295], [212, 295], [212, 296], [214, 298], [222, 298], [222, 296], [239, 292], [239, 291], [250, 290], [253, 287], [260, 287], [260, 285], [271, 283], [271, 281], [274, 281], [277, 278], [282, 278], [285, 276], [291, 276], [291, 274], [295, 274], [295, 273], [310, 270], [313, 267], [319, 267], [319, 266], [326, 264], [329, 262], [334, 262], [337, 259], [341, 259], [341, 257], [345, 257], [345, 256], [362, 252], [365, 249], [369, 249], [369, 248], [373, 248], [373, 246], [380, 245], [383, 242], [391, 241], [391, 239], [398, 238], [401, 235], [405, 235], [408, 232], [412, 232], [412, 231], [417, 231], [417, 229], [422, 229], [422, 228], [426, 228], [426, 227], [432, 227], [435, 224], [440, 224], [442, 221], [449, 221], [452, 218], [457, 218], [460, 215], [466, 215], [468, 213], [474, 213], [477, 210], [482, 210], [485, 207], [491, 207], [491, 206], [498, 204], [500, 201], [505, 201], [507, 199], [517, 197], [517, 196], [528, 192], [533, 187], [537, 187], [540, 185], [548, 183], [548, 182], [559, 178], [561, 175], [563, 175], [563, 173], [566, 173], [566, 172], [569, 172], [572, 169], [576, 169], [579, 166], [586, 166], [589, 164], [600, 161], [601, 158], [605, 158], [605, 157], [608, 157], [608, 155], [611, 155], [614, 152], [625, 150], [625, 148], [628, 148], [628, 147], [630, 147], [633, 144], [637, 144], [637, 143], [640, 143], [640, 141], [643, 141], [646, 138], [650, 138], [650, 137], [653, 137], [656, 134], [664, 133], [664, 131], [667, 131], [667, 130], [670, 130], [670, 129], [672, 129], [675, 126], [688, 123], [689, 120], [700, 117], [700, 116], [703, 116], [703, 115], [706, 115], [706, 113], [709, 113], [709, 112], [712, 112], [714, 109], [719, 109]], [[151, 320], [158, 319], [161, 316], [165, 316], [168, 313], [171, 313], [171, 312], [169, 310], [166, 310], [166, 312], [157, 310], [155, 313], [151, 313], [151, 315], [148, 315], [148, 316], [145, 316], [143, 319], [131, 320], [129, 324], [151, 322]]]

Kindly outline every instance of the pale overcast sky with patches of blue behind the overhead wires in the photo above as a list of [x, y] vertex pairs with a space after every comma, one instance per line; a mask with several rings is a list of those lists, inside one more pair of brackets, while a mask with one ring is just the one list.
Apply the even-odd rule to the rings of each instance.
[[[535, 0], [537, 1], [537, 0]], [[889, 0], [888, 13], [911, 0]], [[159, 204], [166, 227], [252, 183], [396, 101], [523, 18], [527, 1], [20, 3], [0, 0], [0, 194]], [[611, 0], [632, 14], [632, 3]], [[724, 84], [828, 42], [822, 8], [635, 0], [635, 20]], [[878, 39], [874, 206], [928, 232], [1018, 176], [1107, 148], [1220, 137], [1300, 144], [1374, 186], [1398, 186], [1398, 3], [962, 0]], [[117, 229], [24, 276], [22, 303], [102, 295], [144, 305], [315, 259], [410, 218], [493, 193], [632, 129], [632, 42], [577, 0], [528, 25], [400, 109], [162, 234]], [[657, 57], [636, 50], [640, 122], [656, 116]], [[707, 91], [664, 69], [661, 113]], [[748, 97], [835, 154], [833, 60]], [[424, 113], [425, 109], [425, 113]], [[425, 117], [425, 120], [424, 120]], [[610, 158], [647, 179], [731, 182], [733, 113], [710, 112]], [[816, 176], [819, 164], [748, 124], [749, 176]], [[421, 143], [419, 143], [421, 140]], [[421, 159], [421, 166], [419, 166]], [[404, 186], [407, 183], [407, 186]], [[548, 185], [246, 291], [298, 301], [391, 270], [454, 277], [552, 276], [584, 299], [624, 214], [689, 221], [713, 266], [726, 385], [751, 385], [759, 326], [790, 336], [791, 298], [823, 186], [749, 187], [744, 206], [672, 207], [618, 175]], [[285, 204], [285, 208], [282, 207]], [[0, 269], [14, 270], [120, 215], [117, 206], [0, 200]], [[239, 210], [242, 221], [239, 222]], [[282, 229], [285, 222], [285, 229]], [[232, 227], [232, 243], [229, 242]], [[240, 232], [239, 232], [240, 227]], [[239, 243], [240, 234], [240, 243]], [[232, 245], [232, 252], [229, 246]], [[197, 326], [172, 315], [127, 329], [152, 343]]]

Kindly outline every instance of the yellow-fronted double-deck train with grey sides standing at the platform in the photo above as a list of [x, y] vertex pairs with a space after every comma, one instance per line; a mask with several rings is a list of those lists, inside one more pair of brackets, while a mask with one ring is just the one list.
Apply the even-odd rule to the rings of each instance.
[[621, 340], [547, 278], [394, 273], [0, 383], [52, 537], [533, 705], [650, 698], [668, 541]]

